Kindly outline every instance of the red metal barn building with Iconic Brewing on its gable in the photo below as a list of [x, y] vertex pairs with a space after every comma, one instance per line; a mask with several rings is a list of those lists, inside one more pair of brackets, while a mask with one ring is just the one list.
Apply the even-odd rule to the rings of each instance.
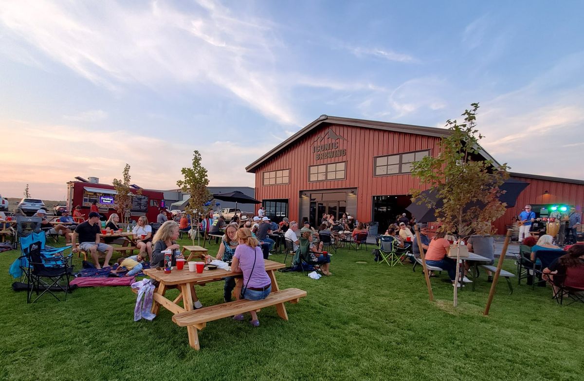
[[[447, 134], [448, 130], [434, 127], [322, 115], [248, 165], [246, 171], [255, 173], [256, 199], [262, 200], [266, 214], [274, 220], [287, 216], [318, 226], [322, 213], [337, 217], [347, 213], [359, 221], [376, 221], [381, 232], [406, 212], [410, 189], [425, 189], [409, 173], [411, 162], [436, 156], [440, 138]], [[498, 165], [486, 151], [481, 150], [480, 156]], [[533, 182], [528, 176], [517, 178]], [[527, 196], [520, 196], [517, 207], [495, 221], [499, 233], [512, 223], [524, 199], [537, 201], [530, 188], [537, 188], [533, 191], [537, 193], [540, 185], [528, 186], [523, 191]], [[549, 192], [558, 189], [549, 188]], [[583, 188], [573, 189], [579, 196], [559, 199], [579, 209]], [[561, 192], [565, 189], [558, 190]]]

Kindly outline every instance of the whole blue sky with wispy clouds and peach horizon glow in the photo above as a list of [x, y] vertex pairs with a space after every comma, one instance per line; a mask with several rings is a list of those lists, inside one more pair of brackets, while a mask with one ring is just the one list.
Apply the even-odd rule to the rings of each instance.
[[584, 179], [581, 1], [0, 0], [0, 195], [211, 186], [322, 114], [443, 127], [479, 102], [511, 171]]

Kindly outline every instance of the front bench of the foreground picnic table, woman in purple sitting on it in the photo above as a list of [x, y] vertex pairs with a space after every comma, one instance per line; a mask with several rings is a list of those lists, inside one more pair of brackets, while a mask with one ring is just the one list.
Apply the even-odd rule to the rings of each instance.
[[[298, 303], [300, 298], [305, 297], [306, 295], [306, 291], [294, 288], [274, 291], [270, 293], [266, 299], [262, 300], [241, 299], [236, 300], [235, 302], [217, 304], [216, 306], [203, 307], [198, 310], [181, 312], [173, 315], [172, 321], [179, 325], [179, 327], [196, 328], [189, 330], [189, 344], [198, 351], [200, 346], [197, 330], [202, 330], [208, 321], [218, 320], [249, 311], [256, 311], [270, 306], [279, 307], [278, 305], [284, 302]], [[283, 310], [283, 314], [280, 313], [280, 309], [278, 312], [281, 318], [288, 320], [288, 314], [286, 313], [286, 310]]]

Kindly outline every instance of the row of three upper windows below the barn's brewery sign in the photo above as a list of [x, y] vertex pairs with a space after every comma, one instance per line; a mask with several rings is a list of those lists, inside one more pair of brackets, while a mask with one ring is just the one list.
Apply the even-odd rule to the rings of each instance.
[[[418, 151], [405, 154], [387, 155], [374, 158], [374, 176], [408, 174], [412, 163], [429, 156], [430, 151]], [[346, 178], [347, 162], [311, 165], [308, 167], [308, 181], [331, 181]], [[263, 172], [263, 185], [280, 185], [290, 183], [290, 169]]]

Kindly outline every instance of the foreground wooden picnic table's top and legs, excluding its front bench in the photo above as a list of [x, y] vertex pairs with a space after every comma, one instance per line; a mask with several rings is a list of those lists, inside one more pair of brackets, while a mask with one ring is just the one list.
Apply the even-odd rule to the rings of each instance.
[[[276, 275], [274, 271], [283, 268], [285, 265], [280, 262], [270, 261], [265, 259], [265, 268], [267, 275], [272, 281], [272, 292], [279, 291], [278, 283], [276, 282]], [[186, 311], [193, 311], [192, 290], [195, 285], [204, 285], [208, 282], [217, 282], [227, 276], [235, 276], [235, 299], [239, 300], [239, 294], [243, 286], [243, 274], [241, 272], [227, 271], [223, 269], [206, 270], [202, 273], [190, 272], [188, 266], [178, 270], [174, 268], [171, 273], [166, 274], [164, 270], [145, 269], [144, 273], [150, 276], [151, 279], [159, 282], [158, 289], [154, 293], [154, 303], [152, 304], [152, 313], [158, 314], [160, 306], [171, 311], [173, 314], [178, 314]], [[178, 288], [179, 295], [175, 299], [167, 299], [165, 297], [166, 291], [169, 288]], [[223, 299], [223, 297], [221, 297]], [[178, 303], [182, 301], [182, 306]], [[288, 320], [288, 314], [284, 303], [276, 304], [278, 315], [284, 320]], [[199, 349], [199, 337], [197, 329], [201, 330], [205, 327], [205, 323], [189, 325], [187, 331], [189, 332], [189, 344], [191, 347]]]

